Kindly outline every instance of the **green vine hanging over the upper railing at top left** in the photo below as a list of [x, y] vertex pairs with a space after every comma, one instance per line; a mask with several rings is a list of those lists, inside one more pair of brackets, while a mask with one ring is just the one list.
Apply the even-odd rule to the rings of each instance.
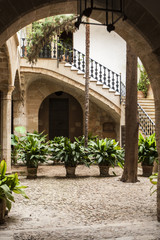
[[53, 37], [62, 32], [75, 32], [75, 15], [58, 15], [45, 18], [44, 21], [34, 22], [32, 31], [27, 40], [27, 59], [31, 64], [35, 64], [42, 48], [53, 40]]

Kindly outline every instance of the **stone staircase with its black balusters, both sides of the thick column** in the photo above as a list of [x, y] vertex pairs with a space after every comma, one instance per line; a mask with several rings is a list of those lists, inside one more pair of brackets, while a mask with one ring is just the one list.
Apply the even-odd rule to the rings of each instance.
[[[25, 39], [22, 40], [21, 57], [24, 58], [26, 54], [26, 42]], [[82, 83], [84, 85], [84, 80], [82, 80], [82, 78], [85, 76], [85, 54], [72, 47], [68, 47], [64, 51], [63, 48], [57, 47], [56, 44], [54, 44], [53, 49], [48, 49], [47, 46], [44, 46], [39, 58], [42, 60], [42, 62], [39, 61], [37, 67], [40, 67], [41, 71], [44, 68], [43, 59], [45, 58], [48, 59], [48, 70], [54, 69], [55, 71], [56, 69], [57, 73], [62, 71], [63, 75], [65, 66], [65, 68], [68, 69], [65, 71], [65, 75], [70, 76], [71, 72], [76, 72], [74, 77], [73, 75], [70, 76], [70, 79], [74, 78], [74, 80], [77, 80], [78, 83]], [[57, 61], [57, 63], [55, 62], [56, 67], [53, 67], [53, 61], [51, 61], [52, 64], [50, 66], [51, 62], [49, 62], [49, 59], [55, 59]], [[26, 63], [24, 65], [26, 65]], [[103, 66], [102, 64], [90, 58], [90, 82], [93, 92], [98, 92], [104, 96], [104, 98], [108, 100], [107, 104], [110, 105], [111, 109], [115, 110], [113, 105], [115, 105], [116, 108], [124, 108], [126, 86], [121, 81], [121, 74], [113, 72], [106, 66]], [[139, 99], [137, 107], [139, 112], [140, 130], [145, 136], [149, 136], [155, 132], [154, 100]], [[119, 109], [117, 111], [119, 111]]]

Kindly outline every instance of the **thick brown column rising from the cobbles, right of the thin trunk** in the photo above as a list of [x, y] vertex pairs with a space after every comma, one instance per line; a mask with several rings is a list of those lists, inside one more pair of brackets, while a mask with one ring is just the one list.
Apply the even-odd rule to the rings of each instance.
[[127, 45], [126, 109], [125, 109], [125, 166], [124, 182], [137, 181], [138, 110], [137, 110], [137, 56]]

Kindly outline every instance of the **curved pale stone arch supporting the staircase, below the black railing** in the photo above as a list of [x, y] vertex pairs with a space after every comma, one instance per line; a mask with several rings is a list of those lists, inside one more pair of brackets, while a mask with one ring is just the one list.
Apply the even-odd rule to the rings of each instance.
[[[46, 67], [43, 67], [44, 63]], [[24, 60], [23, 65], [21, 66], [21, 73], [24, 73], [26, 76], [26, 89], [28, 89], [30, 84], [37, 79], [33, 76], [39, 76], [38, 79], [45, 77], [45, 79], [50, 81], [57, 81], [57, 83], [59, 82], [63, 84], [64, 87], [68, 86], [68, 89], [72, 89], [72, 94], [75, 94], [75, 98], [79, 96], [79, 94], [77, 95], [77, 91], [81, 92], [80, 95], [84, 95], [84, 77], [78, 74], [73, 74], [69, 68], [66, 69], [62, 65], [57, 68], [56, 61], [39, 59], [36, 66], [31, 68], [31, 66]], [[119, 121], [121, 114], [119, 96], [110, 94], [109, 91], [106, 92], [102, 87], [97, 88], [95, 83], [90, 83], [90, 99], [93, 102], [96, 101], [99, 105], [103, 105], [103, 108], [107, 108], [113, 118]], [[81, 98], [80, 103], [81, 102], [81, 105], [83, 106], [84, 98], [83, 100]]]

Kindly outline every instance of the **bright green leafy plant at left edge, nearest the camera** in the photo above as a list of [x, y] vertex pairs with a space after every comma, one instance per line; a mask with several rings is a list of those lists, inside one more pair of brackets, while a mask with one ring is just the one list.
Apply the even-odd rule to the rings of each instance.
[[24, 192], [26, 186], [20, 185], [17, 173], [5, 175], [7, 164], [4, 160], [0, 163], [0, 224], [4, 223], [6, 208], [10, 211], [14, 202], [13, 192], [28, 198]]

